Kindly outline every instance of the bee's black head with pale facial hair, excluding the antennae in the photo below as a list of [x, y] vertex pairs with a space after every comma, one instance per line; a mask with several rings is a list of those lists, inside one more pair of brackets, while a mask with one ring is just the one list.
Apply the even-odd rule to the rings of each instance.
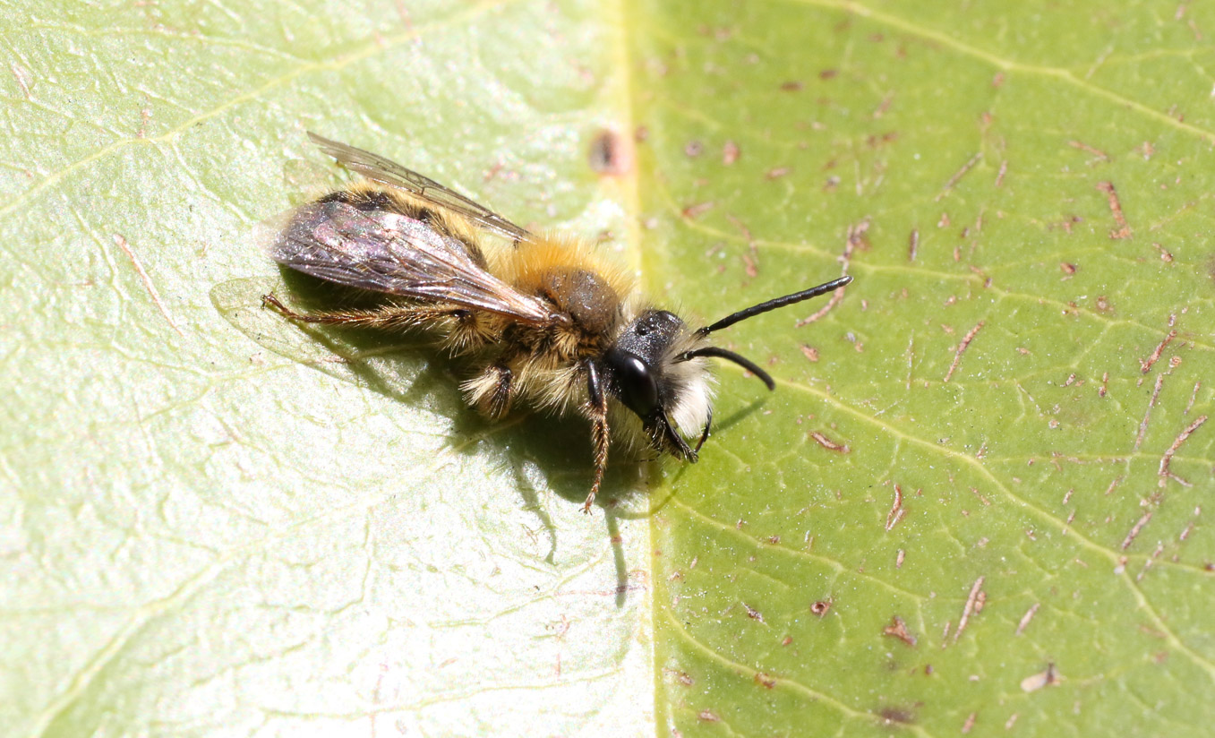
[[679, 359], [693, 342], [695, 334], [679, 316], [646, 310], [604, 356], [609, 391], [642, 418], [655, 449], [688, 461], [696, 461], [696, 451], [679, 427], [706, 424], [710, 412], [703, 365]]

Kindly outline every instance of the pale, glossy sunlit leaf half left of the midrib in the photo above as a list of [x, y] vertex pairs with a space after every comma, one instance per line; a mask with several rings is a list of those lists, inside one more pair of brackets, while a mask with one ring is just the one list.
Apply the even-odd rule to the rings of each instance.
[[593, 10], [10, 9], [0, 733], [652, 729], [646, 523], [571, 502], [584, 426], [259, 306], [256, 224], [345, 179], [306, 129], [622, 231]]

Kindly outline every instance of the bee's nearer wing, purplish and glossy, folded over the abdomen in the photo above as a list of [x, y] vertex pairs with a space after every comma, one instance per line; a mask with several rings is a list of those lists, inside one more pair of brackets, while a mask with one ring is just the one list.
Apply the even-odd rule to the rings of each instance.
[[423, 303], [459, 305], [519, 322], [560, 320], [547, 303], [486, 271], [463, 242], [389, 210], [315, 202], [271, 244], [275, 261], [306, 275]]

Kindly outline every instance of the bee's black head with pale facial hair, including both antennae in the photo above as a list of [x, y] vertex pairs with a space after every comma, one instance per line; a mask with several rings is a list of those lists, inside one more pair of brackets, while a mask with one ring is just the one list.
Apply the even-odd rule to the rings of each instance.
[[[696, 331], [667, 310], [645, 310], [628, 323], [604, 355], [609, 391], [642, 419], [654, 447], [688, 461], [708, 438], [713, 419], [708, 366], [705, 359], [725, 359], [775, 389], [768, 372], [734, 351], [708, 343], [710, 333], [776, 308], [833, 292], [852, 281], [840, 277], [802, 292], [752, 305]], [[703, 429], [701, 429], [703, 428]], [[700, 432], [695, 447], [684, 434]]]

